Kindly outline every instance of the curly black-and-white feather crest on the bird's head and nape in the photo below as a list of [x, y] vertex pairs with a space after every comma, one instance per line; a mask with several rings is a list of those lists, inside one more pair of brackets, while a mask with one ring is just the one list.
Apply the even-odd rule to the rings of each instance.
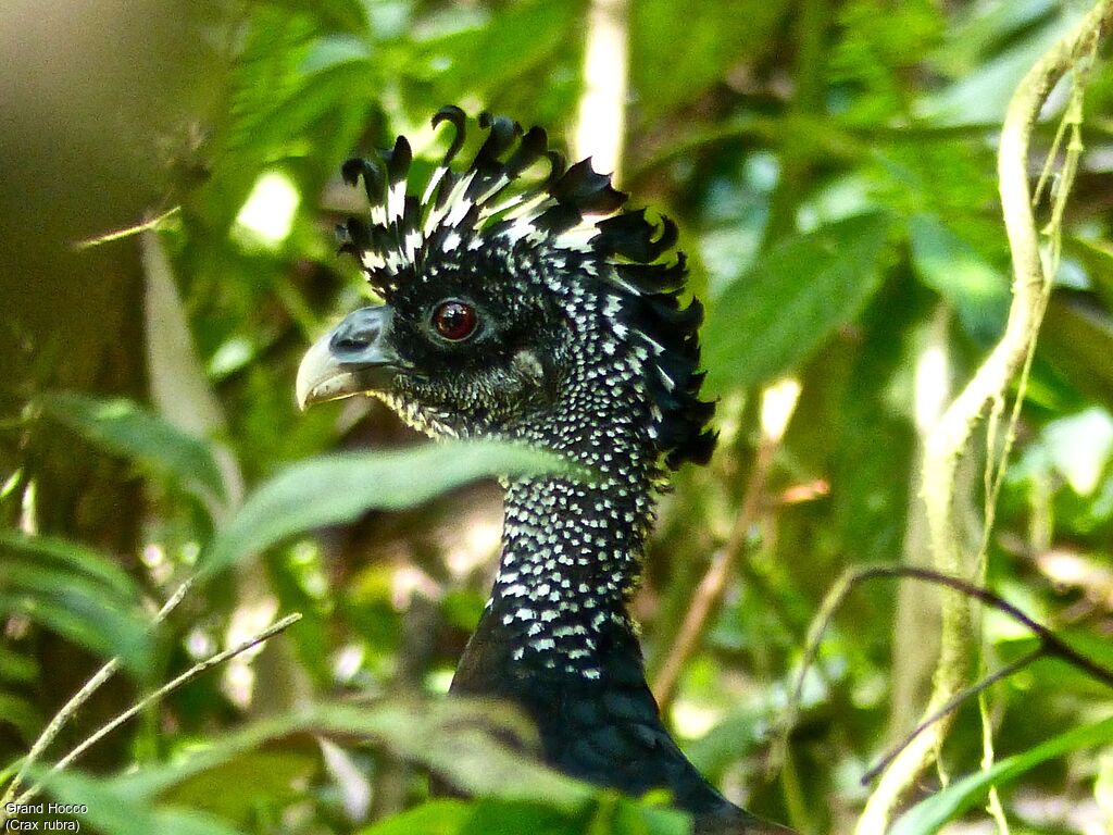
[[[454, 170], [467, 117], [449, 106], [436, 112], [433, 126], [445, 121], [454, 129], [452, 141], [420, 196], [408, 191], [413, 155], [403, 136], [376, 159], [344, 164], [347, 183], [363, 179], [371, 212], [370, 222], [349, 218], [338, 227], [342, 250], [356, 257], [387, 299], [436, 253], [525, 240], [568, 254], [564, 263], [573, 273], [568, 279], [594, 283], [620, 299], [612, 312], [615, 330], [641, 342], [651, 434], [667, 464], [705, 463], [715, 446], [715, 434], [706, 430], [715, 404], [699, 400], [703, 308], [696, 299], [680, 306], [687, 269], [683, 253], [673, 250], [676, 225], [626, 208], [627, 195], [611, 186], [609, 175], [594, 171], [590, 159], [568, 166], [549, 147], [544, 129], [523, 131], [501, 116], [480, 115], [486, 137], [471, 164]], [[538, 164], [548, 165], [546, 175], [522, 177]]]

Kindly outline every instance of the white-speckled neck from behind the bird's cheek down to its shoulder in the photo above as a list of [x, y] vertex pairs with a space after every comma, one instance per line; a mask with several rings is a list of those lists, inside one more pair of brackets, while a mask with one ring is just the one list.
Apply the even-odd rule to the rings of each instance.
[[636, 357], [615, 352], [605, 364], [590, 362], [580, 352], [592, 341], [569, 346], [573, 371], [558, 407], [515, 432], [582, 465], [588, 480], [508, 482], [499, 573], [456, 690], [514, 696], [508, 688], [529, 689], [539, 678], [590, 686], [617, 668], [641, 676], [628, 603], [653, 521], [658, 455]]

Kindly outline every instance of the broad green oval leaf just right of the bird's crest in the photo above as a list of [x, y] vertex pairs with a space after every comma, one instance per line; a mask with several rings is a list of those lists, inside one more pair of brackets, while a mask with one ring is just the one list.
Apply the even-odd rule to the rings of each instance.
[[889, 218], [851, 217], [775, 246], [715, 299], [703, 363], [715, 392], [797, 365], [854, 320], [881, 283]]

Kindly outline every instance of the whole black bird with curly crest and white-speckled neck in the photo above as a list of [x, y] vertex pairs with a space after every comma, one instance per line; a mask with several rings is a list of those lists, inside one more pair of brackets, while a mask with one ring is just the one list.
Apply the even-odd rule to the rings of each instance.
[[[705, 463], [713, 404], [699, 400], [699, 302], [681, 306], [676, 226], [629, 209], [590, 160], [567, 167], [545, 131], [482, 115], [487, 132], [454, 170], [466, 117], [418, 196], [405, 137], [352, 159], [370, 218], [339, 227], [385, 304], [349, 314], [306, 354], [297, 396], [385, 401], [431, 435], [555, 451], [590, 480], [512, 479], [502, 553], [452, 692], [515, 703], [567, 774], [693, 813], [697, 832], [787, 832], [726, 800], [661, 723], [628, 611], [654, 490]], [[545, 169], [541, 177], [523, 176]]]

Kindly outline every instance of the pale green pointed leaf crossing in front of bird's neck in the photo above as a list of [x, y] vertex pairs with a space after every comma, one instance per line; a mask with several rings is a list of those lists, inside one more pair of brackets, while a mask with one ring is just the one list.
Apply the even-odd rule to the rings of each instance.
[[288, 537], [351, 522], [371, 509], [412, 508], [474, 479], [567, 466], [551, 454], [493, 442], [312, 459], [288, 468], [248, 497], [214, 539], [203, 558], [203, 570], [219, 571]]

